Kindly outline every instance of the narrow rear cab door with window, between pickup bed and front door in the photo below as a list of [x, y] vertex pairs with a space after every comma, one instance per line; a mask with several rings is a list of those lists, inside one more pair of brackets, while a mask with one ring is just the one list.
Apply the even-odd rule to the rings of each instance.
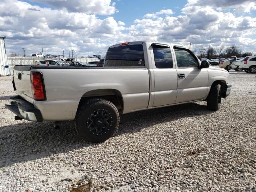
[[152, 44], [154, 70], [153, 107], [174, 104], [177, 96], [177, 71], [170, 46]]

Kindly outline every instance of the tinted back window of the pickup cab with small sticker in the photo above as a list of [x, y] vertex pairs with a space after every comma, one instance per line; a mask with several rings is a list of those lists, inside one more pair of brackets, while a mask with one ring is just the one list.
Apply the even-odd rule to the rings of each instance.
[[105, 59], [105, 66], [145, 67], [142, 44], [109, 48]]

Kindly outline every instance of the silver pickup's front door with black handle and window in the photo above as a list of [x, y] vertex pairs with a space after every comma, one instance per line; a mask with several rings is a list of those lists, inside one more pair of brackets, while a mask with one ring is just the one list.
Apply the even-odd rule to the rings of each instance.
[[174, 47], [178, 87], [175, 103], [204, 99], [208, 90], [208, 70], [199, 69], [196, 56], [186, 48]]

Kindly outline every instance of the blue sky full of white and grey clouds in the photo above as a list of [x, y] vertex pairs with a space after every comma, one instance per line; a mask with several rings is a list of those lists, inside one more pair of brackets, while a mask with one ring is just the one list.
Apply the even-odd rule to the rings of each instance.
[[106, 53], [120, 42], [237, 44], [256, 53], [255, 0], [1, 0], [7, 54]]

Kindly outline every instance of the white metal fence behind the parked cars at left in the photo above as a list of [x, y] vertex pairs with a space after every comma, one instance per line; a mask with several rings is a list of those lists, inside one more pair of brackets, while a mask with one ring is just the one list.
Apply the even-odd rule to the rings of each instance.
[[[50, 58], [35, 58], [35, 57], [7, 57], [6, 65], [36, 65], [39, 61], [47, 60]], [[74, 61], [92, 62], [99, 61], [98, 58], [75, 58]]]

